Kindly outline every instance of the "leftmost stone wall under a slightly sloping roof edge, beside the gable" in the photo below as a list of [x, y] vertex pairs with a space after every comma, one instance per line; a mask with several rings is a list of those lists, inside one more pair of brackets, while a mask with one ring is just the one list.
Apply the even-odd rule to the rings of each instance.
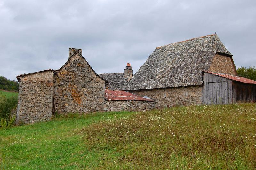
[[19, 77], [17, 123], [34, 123], [52, 118], [53, 71]]

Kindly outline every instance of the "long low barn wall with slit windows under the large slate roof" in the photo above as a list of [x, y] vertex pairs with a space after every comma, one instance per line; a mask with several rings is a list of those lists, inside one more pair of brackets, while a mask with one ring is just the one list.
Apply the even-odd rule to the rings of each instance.
[[131, 92], [139, 96], [146, 95], [155, 100], [156, 108], [202, 104], [202, 86], [133, 90]]

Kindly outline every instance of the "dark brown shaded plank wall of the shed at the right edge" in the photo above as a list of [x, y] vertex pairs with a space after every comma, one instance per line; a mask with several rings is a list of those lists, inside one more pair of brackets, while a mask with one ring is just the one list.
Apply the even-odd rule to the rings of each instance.
[[232, 82], [232, 102], [256, 102], [256, 85]]

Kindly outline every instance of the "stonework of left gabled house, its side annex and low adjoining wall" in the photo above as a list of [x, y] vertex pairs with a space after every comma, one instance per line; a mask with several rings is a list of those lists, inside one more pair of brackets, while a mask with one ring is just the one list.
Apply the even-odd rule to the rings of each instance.
[[68, 61], [58, 70], [17, 76], [20, 82], [17, 123], [51, 120], [59, 114], [104, 111], [143, 111], [154, 102], [106, 101], [105, 83], [82, 56], [82, 49], [69, 48]]

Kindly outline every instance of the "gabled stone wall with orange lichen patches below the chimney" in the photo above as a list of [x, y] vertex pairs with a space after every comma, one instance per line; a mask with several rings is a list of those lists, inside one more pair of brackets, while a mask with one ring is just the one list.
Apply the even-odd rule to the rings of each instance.
[[104, 109], [105, 81], [76, 53], [55, 75], [54, 102], [60, 114]]

